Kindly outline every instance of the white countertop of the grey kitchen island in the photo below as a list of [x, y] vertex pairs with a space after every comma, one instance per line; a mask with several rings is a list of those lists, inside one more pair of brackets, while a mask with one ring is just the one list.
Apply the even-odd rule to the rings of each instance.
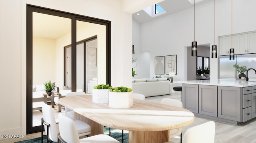
[[[255, 82], [252, 82], [252, 81], [255, 81]], [[236, 80], [235, 78], [210, 79], [210, 80], [188, 80], [188, 81], [177, 81], [177, 83], [214, 85], [214, 86], [248, 87], [248, 86], [256, 86], [256, 79], [250, 79], [249, 81]]]

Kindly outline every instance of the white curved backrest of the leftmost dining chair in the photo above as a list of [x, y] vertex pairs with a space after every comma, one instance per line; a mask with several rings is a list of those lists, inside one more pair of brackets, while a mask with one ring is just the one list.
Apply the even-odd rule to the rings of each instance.
[[[42, 104], [42, 112], [43, 112], [43, 118], [44, 118], [44, 121], [46, 123], [49, 123], [50, 124], [50, 127], [49, 127], [49, 139], [51, 139], [52, 141], [56, 142], [58, 141], [58, 133], [59, 133], [59, 128], [56, 124], [56, 121], [55, 121], [55, 118], [54, 118], [54, 115], [52, 113], [52, 108], [43, 103]], [[47, 134], [47, 126], [44, 125], [44, 130]]]

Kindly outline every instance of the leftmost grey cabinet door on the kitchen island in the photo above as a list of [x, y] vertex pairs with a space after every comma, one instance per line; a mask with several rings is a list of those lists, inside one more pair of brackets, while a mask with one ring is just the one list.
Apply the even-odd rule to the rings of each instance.
[[198, 113], [198, 85], [182, 84], [183, 108]]

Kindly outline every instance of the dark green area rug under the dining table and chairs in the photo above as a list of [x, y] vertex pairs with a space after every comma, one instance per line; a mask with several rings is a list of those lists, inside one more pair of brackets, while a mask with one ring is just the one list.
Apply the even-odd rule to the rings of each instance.
[[[122, 143], [122, 133], [111, 133], [111, 137], [115, 138], [116, 140], [118, 140]], [[44, 135], [43, 139], [44, 139], [43, 142], [46, 143], [47, 142], [46, 135]], [[124, 133], [124, 143], [128, 143], [128, 141], [129, 141], [128, 133]], [[24, 140], [24, 141], [18, 141], [15, 143], [41, 143], [41, 137], [37, 137], [34, 139], [28, 139], [28, 140]], [[57, 142], [53, 142], [53, 143], [57, 143]]]

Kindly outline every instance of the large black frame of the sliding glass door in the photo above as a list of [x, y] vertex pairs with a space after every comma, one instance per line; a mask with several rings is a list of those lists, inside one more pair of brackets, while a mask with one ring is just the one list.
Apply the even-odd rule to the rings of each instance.
[[76, 91], [76, 21], [90, 22], [94, 24], [106, 25], [106, 84], [111, 85], [111, 22], [98, 18], [72, 14], [59, 10], [43, 8], [27, 4], [26, 6], [26, 133], [36, 133], [40, 131], [40, 126], [32, 125], [32, 12], [49, 14], [71, 19], [71, 45], [72, 45], [72, 91]]

